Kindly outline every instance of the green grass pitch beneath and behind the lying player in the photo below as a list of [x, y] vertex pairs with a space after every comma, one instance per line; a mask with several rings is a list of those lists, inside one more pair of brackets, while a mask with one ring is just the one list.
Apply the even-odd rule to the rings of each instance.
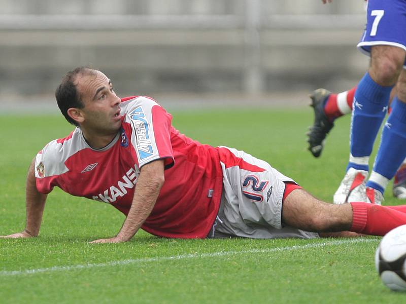
[[[320, 159], [307, 151], [310, 108], [173, 111], [182, 133], [268, 161], [330, 202], [348, 161], [349, 121], [336, 122]], [[59, 116], [0, 116], [0, 235], [24, 228], [24, 184], [32, 158], [72, 127]], [[373, 159], [373, 158], [372, 158]], [[384, 204], [400, 204], [391, 195]], [[39, 238], [0, 240], [4, 303], [403, 303], [374, 266], [380, 238], [169, 240], [140, 231], [123, 244], [113, 207], [55, 189]]]

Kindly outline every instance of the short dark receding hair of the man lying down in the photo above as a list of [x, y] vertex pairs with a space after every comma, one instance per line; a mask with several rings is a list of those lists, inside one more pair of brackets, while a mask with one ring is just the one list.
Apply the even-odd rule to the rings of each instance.
[[69, 115], [67, 110], [69, 108], [83, 108], [84, 104], [81, 101], [81, 96], [76, 88], [75, 80], [78, 74], [93, 73], [94, 70], [87, 66], [79, 66], [74, 70], [71, 70], [65, 74], [60, 85], [56, 88], [55, 98], [58, 103], [58, 107], [62, 112], [65, 119], [72, 125], [79, 126]]

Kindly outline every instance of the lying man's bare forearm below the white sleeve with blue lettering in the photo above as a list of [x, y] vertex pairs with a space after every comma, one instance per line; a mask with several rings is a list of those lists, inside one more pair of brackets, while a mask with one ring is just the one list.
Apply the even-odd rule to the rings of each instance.
[[119, 243], [129, 241], [154, 208], [159, 191], [165, 181], [164, 162], [157, 160], [141, 168], [134, 191], [131, 208], [117, 236], [95, 240], [91, 243]]

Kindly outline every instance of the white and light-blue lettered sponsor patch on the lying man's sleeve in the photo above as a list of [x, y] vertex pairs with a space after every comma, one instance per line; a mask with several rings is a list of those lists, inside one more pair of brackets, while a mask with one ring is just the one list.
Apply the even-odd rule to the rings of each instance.
[[131, 123], [136, 132], [137, 150], [140, 159], [145, 159], [153, 155], [152, 142], [149, 137], [148, 122], [145, 120], [144, 110], [141, 106], [129, 113]]

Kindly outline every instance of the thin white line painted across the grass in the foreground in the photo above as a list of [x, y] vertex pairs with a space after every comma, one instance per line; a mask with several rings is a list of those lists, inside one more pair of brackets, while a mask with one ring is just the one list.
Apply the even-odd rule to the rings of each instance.
[[324, 242], [324, 243], [312, 243], [306, 245], [296, 245], [296, 246], [287, 246], [287, 247], [276, 247], [276, 248], [269, 248], [269, 249], [252, 249], [252, 250], [243, 250], [243, 251], [219, 251], [213, 253], [191, 253], [191, 254], [183, 254], [183, 255], [174, 255], [174, 256], [159, 256], [159, 257], [146, 257], [146, 258], [138, 258], [138, 259], [126, 259], [126, 260], [118, 260], [118, 261], [111, 261], [106, 263], [98, 263], [98, 264], [83, 264], [83, 265], [71, 265], [71, 266], [54, 266], [49, 268], [37, 268], [37, 269], [26, 269], [26, 270], [16, 270], [16, 271], [1, 271], [1, 277], [8, 277], [8, 276], [20, 276], [20, 275], [35, 275], [41, 273], [51, 273], [51, 272], [61, 272], [61, 271], [72, 271], [72, 270], [82, 270], [82, 269], [90, 269], [96, 267], [111, 267], [116, 265], [127, 265], [127, 264], [139, 264], [139, 263], [148, 263], [148, 262], [160, 262], [160, 261], [167, 261], [167, 260], [180, 260], [180, 259], [188, 259], [188, 258], [205, 258], [205, 257], [218, 257], [218, 256], [228, 256], [228, 255], [236, 255], [236, 254], [247, 254], [247, 253], [272, 253], [276, 251], [292, 251], [292, 250], [299, 250], [299, 249], [308, 249], [308, 248], [318, 248], [318, 247], [325, 247], [325, 246], [334, 246], [334, 245], [342, 245], [342, 244], [353, 244], [353, 243], [371, 243], [376, 242], [376, 239], [345, 239], [345, 240], [335, 240], [331, 242]]

